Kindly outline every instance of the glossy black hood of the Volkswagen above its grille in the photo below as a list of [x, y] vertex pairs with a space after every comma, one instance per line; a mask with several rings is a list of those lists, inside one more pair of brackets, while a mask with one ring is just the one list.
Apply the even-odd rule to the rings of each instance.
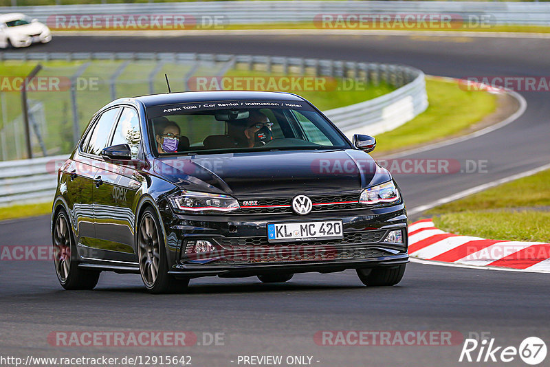
[[391, 179], [370, 155], [351, 149], [161, 158], [153, 170], [183, 190], [239, 198], [358, 191]]

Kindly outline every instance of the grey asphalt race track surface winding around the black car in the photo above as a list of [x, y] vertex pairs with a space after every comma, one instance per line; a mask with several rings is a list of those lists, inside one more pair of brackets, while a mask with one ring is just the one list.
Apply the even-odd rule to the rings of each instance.
[[[549, 76], [547, 45], [547, 40], [536, 38], [466, 36], [75, 36], [57, 37], [34, 50], [307, 56], [403, 63], [426, 74], [462, 78]], [[410, 156], [462, 163], [483, 159], [487, 172], [396, 175], [408, 208], [550, 162], [549, 93], [521, 94], [528, 106], [515, 122]], [[0, 245], [48, 245], [49, 225], [47, 217], [0, 223]], [[462, 344], [319, 346], [314, 334], [458, 331], [467, 337], [488, 332], [497, 346], [518, 347], [529, 336], [550, 342], [547, 274], [410, 263], [395, 287], [363, 287], [355, 272], [344, 271], [301, 274], [283, 285], [263, 285], [256, 278], [201, 278], [191, 281], [188, 293], [166, 296], [149, 296], [139, 276], [111, 273], [102, 274], [95, 291], [62, 291], [47, 261], [2, 261], [0, 274], [0, 355], [191, 355], [194, 366], [234, 366], [239, 355], [311, 355], [314, 366], [455, 366]], [[199, 340], [203, 332], [221, 332], [225, 345], [61, 348], [47, 342], [53, 331], [90, 330], [186, 330]], [[518, 357], [507, 365], [525, 366]]]

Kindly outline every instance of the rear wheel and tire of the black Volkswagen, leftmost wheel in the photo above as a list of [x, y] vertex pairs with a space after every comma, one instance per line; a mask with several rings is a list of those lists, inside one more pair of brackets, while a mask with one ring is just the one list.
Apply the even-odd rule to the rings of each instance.
[[67, 290], [90, 290], [98, 284], [100, 271], [78, 267], [78, 253], [72, 226], [65, 210], [54, 218], [52, 234], [54, 267], [61, 287]]

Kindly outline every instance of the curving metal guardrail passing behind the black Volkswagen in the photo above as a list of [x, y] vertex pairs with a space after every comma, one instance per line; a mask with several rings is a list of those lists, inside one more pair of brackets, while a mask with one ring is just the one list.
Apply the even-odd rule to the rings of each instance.
[[[4, 52], [1, 60], [204, 60], [248, 65], [266, 71], [274, 68], [289, 74], [362, 78], [388, 82], [397, 89], [384, 96], [325, 111], [344, 133], [382, 133], [411, 120], [428, 107], [424, 74], [403, 65], [355, 63], [314, 58], [224, 54], [164, 53], [19, 53]], [[56, 187], [57, 168], [67, 155], [0, 162], [0, 206], [12, 203], [49, 201]]]

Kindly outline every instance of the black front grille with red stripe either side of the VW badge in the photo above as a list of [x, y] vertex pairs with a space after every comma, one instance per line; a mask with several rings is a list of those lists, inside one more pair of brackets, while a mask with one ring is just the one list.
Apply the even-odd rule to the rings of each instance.
[[[335, 195], [311, 195], [313, 203], [311, 212], [323, 212], [327, 210], [344, 210], [364, 208], [359, 203], [360, 192]], [[256, 199], [254, 205], [245, 205], [248, 199], [239, 200], [240, 210], [231, 214], [283, 214], [292, 212], [293, 197]]]

